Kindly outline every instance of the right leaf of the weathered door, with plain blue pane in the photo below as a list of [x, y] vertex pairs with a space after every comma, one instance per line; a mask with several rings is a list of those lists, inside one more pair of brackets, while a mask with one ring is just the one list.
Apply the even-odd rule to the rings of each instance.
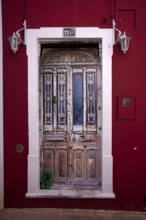
[[[73, 69], [73, 186], [76, 189], [99, 186], [97, 87], [97, 68]], [[77, 120], [79, 112], [82, 121]]]

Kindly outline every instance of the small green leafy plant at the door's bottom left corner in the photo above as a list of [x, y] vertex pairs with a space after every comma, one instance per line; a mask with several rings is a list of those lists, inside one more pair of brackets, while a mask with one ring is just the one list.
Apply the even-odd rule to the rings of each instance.
[[50, 189], [53, 184], [53, 174], [47, 169], [43, 169], [40, 175], [40, 188]]

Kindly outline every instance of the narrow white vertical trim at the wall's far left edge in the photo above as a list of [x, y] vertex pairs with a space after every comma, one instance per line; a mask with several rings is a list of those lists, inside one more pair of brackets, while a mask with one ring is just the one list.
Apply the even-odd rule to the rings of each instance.
[[0, 0], [0, 209], [4, 207], [4, 159], [3, 159], [3, 47], [2, 3]]

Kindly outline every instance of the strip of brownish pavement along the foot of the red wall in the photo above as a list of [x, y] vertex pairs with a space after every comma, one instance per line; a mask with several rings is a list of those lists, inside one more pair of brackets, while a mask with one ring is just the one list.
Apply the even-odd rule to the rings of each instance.
[[79, 209], [1, 209], [0, 220], [146, 220], [146, 212]]

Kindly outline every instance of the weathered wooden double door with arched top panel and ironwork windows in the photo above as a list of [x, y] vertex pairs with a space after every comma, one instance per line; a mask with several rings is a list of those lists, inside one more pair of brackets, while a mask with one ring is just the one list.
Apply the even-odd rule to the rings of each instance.
[[101, 76], [97, 49], [44, 49], [40, 73], [41, 167], [53, 189], [101, 185]]

